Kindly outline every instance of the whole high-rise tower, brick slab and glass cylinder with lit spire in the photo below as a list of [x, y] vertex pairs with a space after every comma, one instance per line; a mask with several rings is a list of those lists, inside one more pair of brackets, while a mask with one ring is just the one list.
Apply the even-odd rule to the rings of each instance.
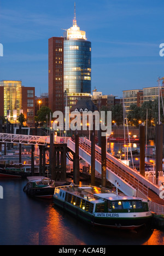
[[49, 39], [49, 107], [63, 111], [82, 99], [91, 99], [91, 42], [78, 27], [74, 8], [73, 26], [63, 37]]

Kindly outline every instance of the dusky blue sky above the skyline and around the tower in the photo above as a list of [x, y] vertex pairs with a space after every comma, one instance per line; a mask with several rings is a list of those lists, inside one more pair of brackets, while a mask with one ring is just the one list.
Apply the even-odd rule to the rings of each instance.
[[[92, 90], [157, 86], [164, 77], [163, 0], [77, 0], [77, 24], [92, 43]], [[72, 26], [74, 0], [0, 0], [0, 80], [48, 92], [48, 39]]]

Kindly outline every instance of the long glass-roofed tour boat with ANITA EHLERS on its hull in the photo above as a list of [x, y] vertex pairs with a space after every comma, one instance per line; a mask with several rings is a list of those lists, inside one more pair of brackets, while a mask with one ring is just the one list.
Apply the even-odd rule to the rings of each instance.
[[92, 186], [56, 187], [54, 204], [87, 223], [110, 228], [137, 229], [153, 217], [148, 201]]

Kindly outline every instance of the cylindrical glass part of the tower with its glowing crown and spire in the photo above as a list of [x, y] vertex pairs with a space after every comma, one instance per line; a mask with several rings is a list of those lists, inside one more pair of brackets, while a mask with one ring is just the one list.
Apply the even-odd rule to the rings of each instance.
[[64, 106], [91, 98], [91, 42], [77, 25], [74, 8], [73, 27], [64, 33]]

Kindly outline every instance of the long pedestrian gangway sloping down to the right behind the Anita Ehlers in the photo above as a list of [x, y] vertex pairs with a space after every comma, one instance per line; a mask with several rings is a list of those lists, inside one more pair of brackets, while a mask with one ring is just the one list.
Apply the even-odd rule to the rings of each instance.
[[[69, 138], [67, 147], [75, 152], [75, 141]], [[87, 138], [79, 139], [79, 157], [91, 165], [91, 141]], [[119, 189], [129, 196], [139, 196], [142, 193], [148, 196], [149, 189], [159, 195], [159, 186], [150, 182], [139, 172], [125, 165], [121, 160], [115, 158], [108, 152], [106, 153], [107, 180], [115, 184], [118, 182]], [[101, 174], [101, 148], [95, 146], [95, 169]]]

